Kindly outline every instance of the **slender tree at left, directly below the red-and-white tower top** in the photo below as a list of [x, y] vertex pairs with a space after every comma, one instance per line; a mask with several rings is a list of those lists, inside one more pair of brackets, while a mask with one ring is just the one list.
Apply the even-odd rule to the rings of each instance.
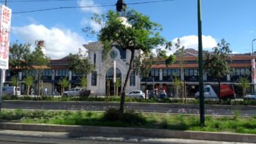
[[43, 47], [45, 47], [44, 41], [40, 40], [40, 41], [38, 41], [37, 47], [35, 48], [35, 50], [31, 53], [31, 64], [32, 64], [32, 66], [34, 66], [34, 69], [37, 72], [37, 77], [38, 77], [37, 95], [40, 95], [40, 91], [41, 91], [40, 85], [41, 85], [42, 71], [48, 65], [49, 60], [50, 60], [42, 52]]

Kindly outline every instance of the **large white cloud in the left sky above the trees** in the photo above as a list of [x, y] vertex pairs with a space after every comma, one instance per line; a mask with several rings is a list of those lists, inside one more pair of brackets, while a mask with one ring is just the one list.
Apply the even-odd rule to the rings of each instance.
[[46, 56], [50, 58], [63, 58], [69, 53], [78, 53], [86, 40], [69, 29], [57, 27], [46, 28], [43, 25], [31, 24], [23, 27], [12, 27], [12, 33], [21, 37], [24, 42], [34, 45], [36, 40], [45, 41]]

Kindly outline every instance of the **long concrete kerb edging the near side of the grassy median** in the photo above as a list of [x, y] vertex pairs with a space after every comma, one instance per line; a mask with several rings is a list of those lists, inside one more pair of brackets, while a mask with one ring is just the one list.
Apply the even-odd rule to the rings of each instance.
[[169, 129], [142, 129], [142, 128], [121, 128], [107, 126], [67, 126], [54, 124], [20, 124], [0, 123], [0, 129], [39, 131], [39, 132], [69, 132], [88, 134], [115, 134], [140, 137], [156, 138], [180, 138], [191, 140], [213, 140], [239, 143], [256, 143], [256, 134], [234, 134], [227, 132], [192, 132]]

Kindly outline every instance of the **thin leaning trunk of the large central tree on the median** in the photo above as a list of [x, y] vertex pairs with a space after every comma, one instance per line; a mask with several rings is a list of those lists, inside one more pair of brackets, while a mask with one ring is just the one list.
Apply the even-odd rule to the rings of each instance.
[[128, 80], [129, 80], [129, 75], [131, 75], [131, 72], [132, 72], [133, 61], [134, 61], [134, 58], [135, 58], [135, 50], [132, 49], [131, 53], [132, 53], [132, 55], [131, 55], [131, 59], [129, 61], [129, 69], [128, 69], [128, 72], [127, 72], [127, 77], [125, 77], [123, 91], [121, 92], [120, 108], [119, 108], [119, 114], [120, 115], [122, 115], [124, 113], [125, 94], [126, 94], [126, 89], [127, 89], [127, 83], [128, 83]]

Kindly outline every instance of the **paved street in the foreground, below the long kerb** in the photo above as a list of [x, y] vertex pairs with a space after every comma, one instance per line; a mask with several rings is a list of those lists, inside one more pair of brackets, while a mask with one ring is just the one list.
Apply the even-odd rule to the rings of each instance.
[[[208, 140], [184, 140], [174, 138], [154, 137], [127, 137], [121, 135], [92, 135], [92, 134], [71, 134], [68, 132], [31, 132], [31, 131], [0, 131], [1, 144], [132, 144], [132, 143], [155, 143], [155, 144], [235, 144], [233, 142], [220, 142]], [[240, 144], [240, 143], [236, 143]], [[249, 143], [241, 143], [249, 144]]]

